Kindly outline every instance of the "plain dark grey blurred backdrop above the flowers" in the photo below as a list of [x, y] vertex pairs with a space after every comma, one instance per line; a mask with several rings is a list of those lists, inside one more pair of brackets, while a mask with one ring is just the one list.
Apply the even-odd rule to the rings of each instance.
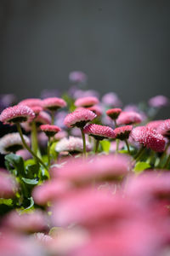
[[19, 99], [70, 86], [122, 101], [169, 96], [169, 0], [0, 0], [0, 93]]

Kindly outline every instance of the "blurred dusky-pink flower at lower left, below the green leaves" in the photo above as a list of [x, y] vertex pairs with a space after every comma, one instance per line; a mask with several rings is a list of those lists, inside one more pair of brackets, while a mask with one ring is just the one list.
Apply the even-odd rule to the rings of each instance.
[[48, 230], [48, 218], [45, 213], [40, 210], [23, 214], [15, 212], [14, 210], [3, 218], [3, 225], [9, 230], [37, 232]]

